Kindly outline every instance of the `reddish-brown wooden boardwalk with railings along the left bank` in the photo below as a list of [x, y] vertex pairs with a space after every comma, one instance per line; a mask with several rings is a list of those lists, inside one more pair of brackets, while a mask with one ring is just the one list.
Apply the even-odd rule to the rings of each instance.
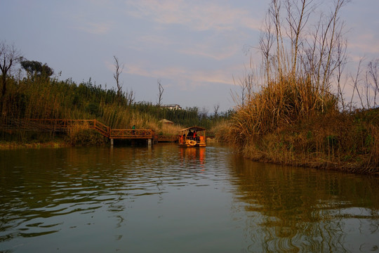
[[146, 139], [150, 142], [177, 141], [177, 136], [159, 136], [152, 129], [111, 129], [96, 119], [12, 119], [0, 129], [25, 131], [69, 131], [76, 127], [95, 129], [102, 136], [113, 139]]

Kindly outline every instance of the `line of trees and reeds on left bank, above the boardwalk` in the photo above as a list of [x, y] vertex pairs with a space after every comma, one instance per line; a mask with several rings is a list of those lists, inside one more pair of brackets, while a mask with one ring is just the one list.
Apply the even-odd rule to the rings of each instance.
[[[95, 118], [112, 128], [126, 129], [135, 124], [139, 128], [159, 129], [159, 121], [168, 119], [183, 128], [197, 125], [210, 129], [233, 113], [210, 113], [197, 107], [170, 110], [161, 106], [161, 99], [157, 104], [135, 101], [133, 91], [122, 90], [119, 77], [124, 66], [115, 56], [117, 88], [105, 89], [101, 84], [93, 84], [91, 78], [79, 84], [72, 79], [60, 80], [53, 76], [54, 70], [47, 63], [23, 58], [14, 44], [2, 41], [0, 48], [3, 125], [22, 118]], [[159, 89], [160, 98], [162, 93], [163, 87]]]

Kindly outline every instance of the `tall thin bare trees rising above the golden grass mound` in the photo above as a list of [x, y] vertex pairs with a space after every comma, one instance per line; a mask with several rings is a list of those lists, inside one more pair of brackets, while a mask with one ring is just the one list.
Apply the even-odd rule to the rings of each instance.
[[[329, 12], [320, 12], [325, 5], [316, 0], [271, 0], [258, 47], [265, 72], [262, 77], [268, 86], [271, 81], [288, 78], [310, 80], [324, 110], [331, 77], [337, 71], [341, 77], [346, 63], [345, 24], [340, 11], [349, 1], [333, 0]], [[318, 20], [317, 13], [321, 13]], [[311, 20], [316, 23], [310, 24]]]

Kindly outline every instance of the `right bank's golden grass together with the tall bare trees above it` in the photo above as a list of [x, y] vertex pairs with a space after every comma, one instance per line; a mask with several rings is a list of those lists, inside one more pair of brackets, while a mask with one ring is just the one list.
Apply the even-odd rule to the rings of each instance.
[[[253, 160], [378, 174], [379, 109], [338, 108], [345, 105], [340, 77], [346, 59], [338, 13], [347, 1], [334, 1], [335, 10], [315, 31], [306, 24], [315, 13], [310, 1], [295, 3], [271, 2], [260, 41], [262, 77], [241, 80], [246, 93], [223, 136]], [[331, 91], [333, 77], [338, 95]]]

